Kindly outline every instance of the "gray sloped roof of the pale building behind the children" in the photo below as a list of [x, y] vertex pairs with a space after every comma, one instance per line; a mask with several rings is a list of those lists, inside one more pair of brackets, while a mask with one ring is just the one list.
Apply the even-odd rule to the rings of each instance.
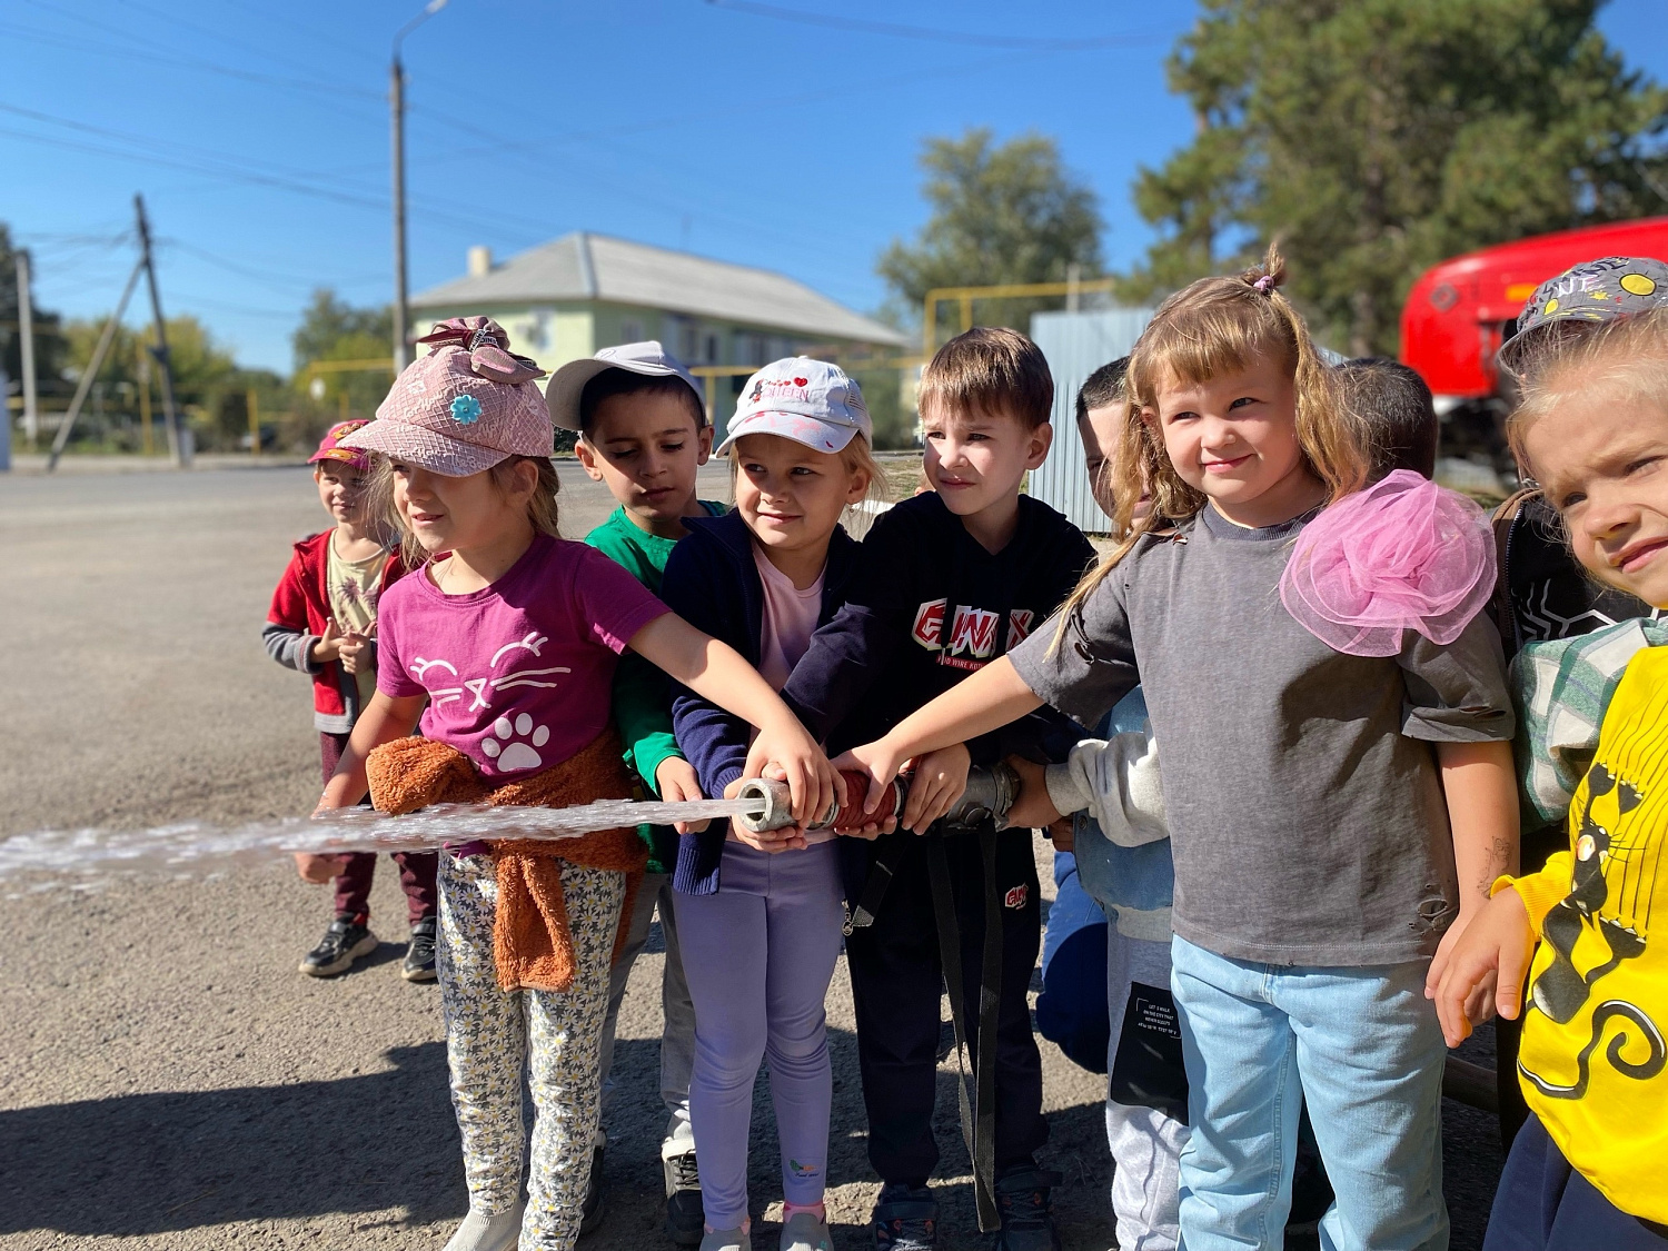
[[605, 300], [801, 335], [904, 345], [904, 335], [892, 327], [781, 274], [587, 230], [529, 249], [490, 274], [442, 282], [410, 302], [414, 309], [454, 309], [557, 300]]

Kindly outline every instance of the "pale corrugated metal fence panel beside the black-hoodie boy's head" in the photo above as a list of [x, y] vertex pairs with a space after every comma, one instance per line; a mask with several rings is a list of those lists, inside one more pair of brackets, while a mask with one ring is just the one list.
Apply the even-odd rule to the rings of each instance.
[[1042, 467], [1031, 474], [1029, 490], [1089, 534], [1106, 534], [1111, 519], [1089, 492], [1088, 462], [1078, 439], [1078, 390], [1101, 365], [1129, 355], [1151, 319], [1151, 309], [1041, 312], [1031, 317], [1031, 339], [1042, 349], [1054, 375], [1054, 447]]

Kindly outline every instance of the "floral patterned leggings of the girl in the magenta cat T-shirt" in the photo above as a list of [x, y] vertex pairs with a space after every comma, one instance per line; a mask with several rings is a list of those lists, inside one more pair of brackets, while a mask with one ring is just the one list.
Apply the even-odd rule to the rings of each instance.
[[469, 1206], [500, 1213], [520, 1193], [522, 1071], [532, 1086], [532, 1169], [520, 1246], [570, 1251], [597, 1129], [597, 1048], [626, 874], [562, 864], [579, 966], [567, 991], [502, 991], [492, 962], [497, 876], [487, 856], [440, 856], [440, 1011]]

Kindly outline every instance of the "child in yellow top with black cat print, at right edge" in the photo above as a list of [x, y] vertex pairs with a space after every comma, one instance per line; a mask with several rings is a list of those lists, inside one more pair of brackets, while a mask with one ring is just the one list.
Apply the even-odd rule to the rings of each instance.
[[[1668, 310], [1560, 349], [1525, 380], [1508, 434], [1586, 572], [1668, 607]], [[1533, 781], [1558, 772], [1546, 749], [1570, 722], [1591, 724], [1596, 742], [1581, 744], [1590, 766], [1560, 794], [1571, 801], [1568, 851], [1495, 882], [1431, 969], [1449, 1046], [1478, 1019], [1466, 1006], [1476, 987], [1495, 982], [1500, 1014], [1523, 1016], [1518, 1074], [1531, 1116], [1501, 1173], [1485, 1251], [1668, 1248], [1668, 966], [1650, 932], [1668, 846], [1665, 642], [1656, 622], [1628, 620], [1531, 644], [1515, 667], [1530, 687], [1531, 799], [1545, 791]], [[1548, 669], [1550, 701], [1536, 694]]]

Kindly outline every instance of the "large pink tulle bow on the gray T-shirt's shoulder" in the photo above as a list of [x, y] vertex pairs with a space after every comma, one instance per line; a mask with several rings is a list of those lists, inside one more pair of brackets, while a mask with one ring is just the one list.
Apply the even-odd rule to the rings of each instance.
[[1394, 656], [1403, 631], [1446, 646], [1493, 592], [1488, 514], [1406, 469], [1324, 509], [1279, 579], [1298, 624], [1349, 656]]

